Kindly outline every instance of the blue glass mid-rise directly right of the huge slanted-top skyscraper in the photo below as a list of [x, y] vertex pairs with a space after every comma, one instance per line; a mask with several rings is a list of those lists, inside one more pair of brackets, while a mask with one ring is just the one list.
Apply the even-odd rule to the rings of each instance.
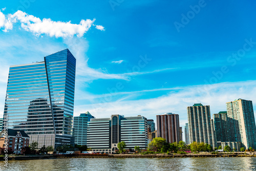
[[74, 117], [73, 135], [75, 137], [75, 144], [87, 145], [87, 125], [88, 121], [95, 118], [89, 112], [80, 114]]

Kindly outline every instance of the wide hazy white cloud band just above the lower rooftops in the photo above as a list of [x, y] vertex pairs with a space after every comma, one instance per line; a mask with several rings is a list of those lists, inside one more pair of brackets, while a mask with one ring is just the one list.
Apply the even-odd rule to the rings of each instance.
[[[168, 93], [157, 98], [131, 100], [131, 97], [145, 95], [145, 93], [154, 91], [167, 91]], [[118, 96], [119, 99], [108, 101], [110, 99], [108, 96], [112, 96], [112, 99], [114, 99], [114, 96]], [[169, 89], [119, 92], [108, 95], [96, 95], [97, 100], [92, 100], [94, 97], [90, 94], [90, 98], [92, 104], [79, 104], [79, 101], [82, 102], [84, 100], [76, 99], [75, 116], [83, 111], [89, 111], [98, 118], [110, 117], [112, 114], [121, 114], [125, 116], [143, 115], [148, 119], [156, 119], [156, 115], [172, 112], [179, 114], [180, 124], [184, 126], [185, 122], [187, 122], [186, 108], [194, 103], [210, 105], [211, 118], [212, 114], [226, 110], [226, 102], [238, 98], [252, 100], [255, 111], [256, 81], [223, 82]], [[97, 103], [97, 101], [100, 101], [100, 103]]]

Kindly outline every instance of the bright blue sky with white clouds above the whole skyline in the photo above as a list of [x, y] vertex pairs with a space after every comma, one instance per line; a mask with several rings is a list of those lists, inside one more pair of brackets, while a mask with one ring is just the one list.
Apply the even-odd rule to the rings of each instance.
[[[0, 111], [10, 65], [69, 48], [77, 58], [74, 116], [156, 115], [256, 104], [253, 1], [1, 1]], [[20, 10], [20, 11], [19, 11]], [[94, 20], [95, 19], [95, 20]]]

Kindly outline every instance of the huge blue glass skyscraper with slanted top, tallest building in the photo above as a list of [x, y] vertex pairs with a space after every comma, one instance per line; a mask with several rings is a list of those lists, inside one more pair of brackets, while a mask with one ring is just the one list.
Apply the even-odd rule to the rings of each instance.
[[73, 144], [75, 69], [68, 49], [42, 62], [10, 66], [4, 110], [8, 129], [25, 131], [38, 148]]

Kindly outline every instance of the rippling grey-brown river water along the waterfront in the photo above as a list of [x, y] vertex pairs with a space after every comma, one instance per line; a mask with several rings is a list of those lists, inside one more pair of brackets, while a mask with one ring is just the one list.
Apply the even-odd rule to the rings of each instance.
[[256, 170], [256, 157], [93, 158], [0, 161], [0, 170]]

